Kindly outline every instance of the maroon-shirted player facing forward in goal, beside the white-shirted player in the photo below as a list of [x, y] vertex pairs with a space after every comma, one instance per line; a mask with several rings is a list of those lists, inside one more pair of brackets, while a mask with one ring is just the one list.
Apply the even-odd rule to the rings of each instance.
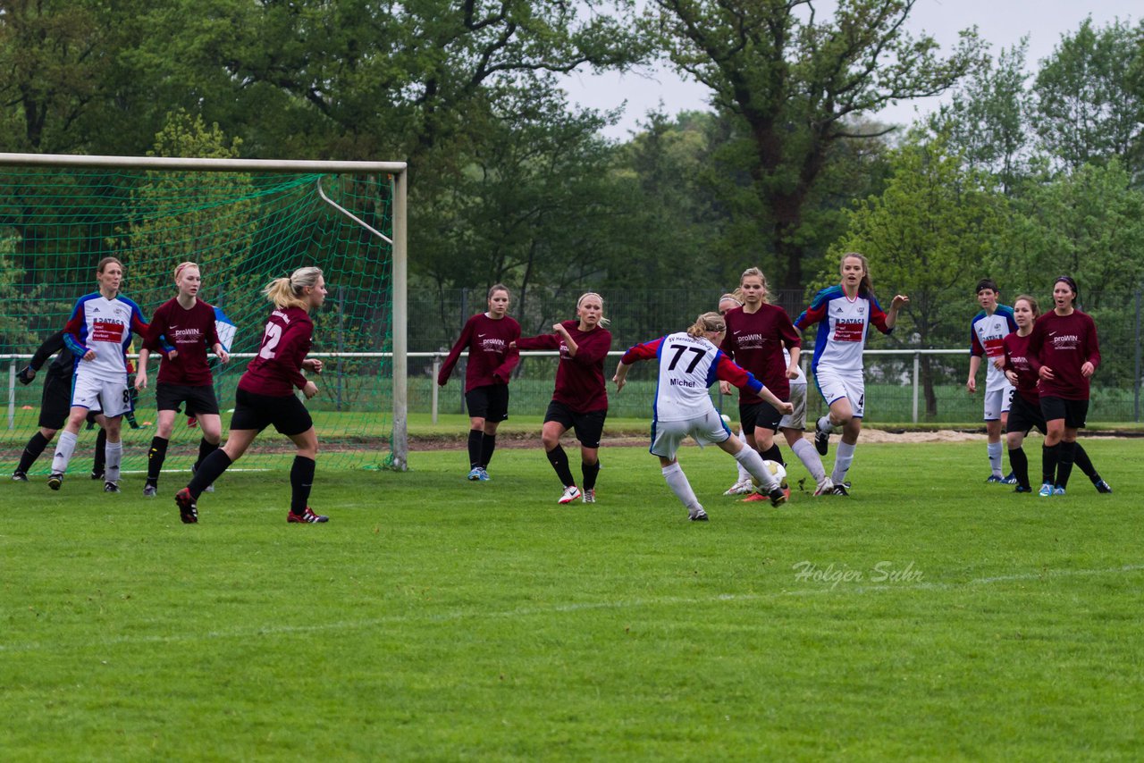
[[146, 389], [148, 358], [151, 352], [165, 349], [161, 343], [165, 339], [169, 350], [159, 364], [159, 380], [156, 382], [158, 422], [148, 451], [146, 484], [143, 486], [143, 495], [148, 498], [158, 494], [159, 472], [167, 458], [167, 443], [175, 428], [175, 414], [178, 413], [180, 405], [194, 411], [202, 432], [199, 458], [196, 459], [192, 471], [198, 471], [204, 459], [217, 450], [222, 437], [214, 377], [207, 365], [207, 348], [223, 364], [230, 360], [230, 356], [215, 331], [214, 307], [198, 299], [199, 287], [202, 285], [199, 267], [193, 262], [180, 263], [175, 268], [175, 285], [178, 294], [154, 311], [146, 339], [140, 349], [138, 371], [135, 374], [135, 389]]

